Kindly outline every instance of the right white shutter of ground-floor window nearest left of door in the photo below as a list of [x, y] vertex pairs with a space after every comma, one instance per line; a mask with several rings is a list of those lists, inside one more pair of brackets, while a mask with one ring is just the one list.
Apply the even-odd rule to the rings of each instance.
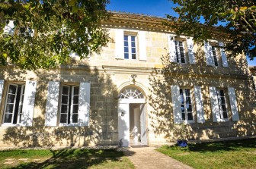
[[78, 125], [89, 126], [91, 83], [80, 83]]

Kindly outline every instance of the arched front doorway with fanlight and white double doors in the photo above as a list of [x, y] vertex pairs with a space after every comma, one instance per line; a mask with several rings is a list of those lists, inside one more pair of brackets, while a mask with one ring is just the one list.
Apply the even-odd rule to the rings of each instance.
[[126, 87], [118, 98], [120, 145], [147, 145], [146, 96], [142, 89]]

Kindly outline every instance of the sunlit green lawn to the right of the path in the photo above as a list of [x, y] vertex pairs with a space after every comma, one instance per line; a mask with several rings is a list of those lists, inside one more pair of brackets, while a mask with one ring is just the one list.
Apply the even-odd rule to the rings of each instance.
[[256, 167], [256, 139], [162, 146], [158, 152], [194, 168]]

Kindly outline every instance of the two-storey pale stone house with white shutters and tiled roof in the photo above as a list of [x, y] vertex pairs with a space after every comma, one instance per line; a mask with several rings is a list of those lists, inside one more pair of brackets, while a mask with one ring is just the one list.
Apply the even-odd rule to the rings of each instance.
[[159, 145], [255, 136], [246, 57], [176, 36], [163, 18], [113, 13], [100, 55], [51, 70], [0, 67], [0, 146]]

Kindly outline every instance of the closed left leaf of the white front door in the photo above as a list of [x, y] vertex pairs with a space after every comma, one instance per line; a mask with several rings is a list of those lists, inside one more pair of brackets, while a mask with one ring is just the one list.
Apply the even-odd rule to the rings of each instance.
[[120, 146], [127, 147], [130, 142], [129, 103], [118, 104], [118, 139]]

